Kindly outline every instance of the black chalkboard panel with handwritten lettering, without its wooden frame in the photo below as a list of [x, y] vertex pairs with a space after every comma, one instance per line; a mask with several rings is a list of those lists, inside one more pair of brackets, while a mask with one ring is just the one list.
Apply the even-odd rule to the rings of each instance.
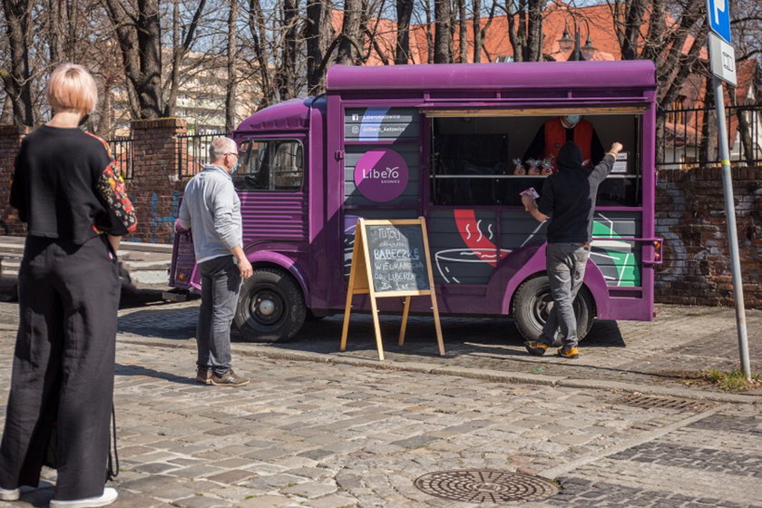
[[430, 289], [419, 224], [366, 224], [365, 232], [376, 293]]

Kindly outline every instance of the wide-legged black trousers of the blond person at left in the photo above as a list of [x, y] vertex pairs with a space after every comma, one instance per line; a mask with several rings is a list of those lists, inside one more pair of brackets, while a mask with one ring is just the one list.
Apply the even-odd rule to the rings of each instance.
[[103, 493], [120, 295], [109, 250], [102, 237], [83, 245], [26, 239], [0, 487], [36, 486], [56, 432], [54, 498]]

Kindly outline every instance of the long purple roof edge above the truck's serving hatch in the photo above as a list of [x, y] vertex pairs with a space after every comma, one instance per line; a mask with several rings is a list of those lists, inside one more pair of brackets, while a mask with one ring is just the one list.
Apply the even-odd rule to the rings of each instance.
[[418, 64], [358, 67], [333, 65], [328, 92], [444, 90], [453, 88], [656, 88], [650, 60], [615, 62], [523, 62], [510, 64]]

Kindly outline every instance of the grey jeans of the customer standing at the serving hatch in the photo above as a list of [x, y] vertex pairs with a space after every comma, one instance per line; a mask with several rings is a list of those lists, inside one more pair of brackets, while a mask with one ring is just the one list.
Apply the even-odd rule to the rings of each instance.
[[556, 337], [568, 347], [577, 347], [577, 317], [574, 298], [577, 298], [585, 267], [590, 258], [590, 245], [582, 243], [549, 243], [545, 252], [545, 268], [551, 284], [553, 307], [542, 327], [540, 342], [552, 345]]

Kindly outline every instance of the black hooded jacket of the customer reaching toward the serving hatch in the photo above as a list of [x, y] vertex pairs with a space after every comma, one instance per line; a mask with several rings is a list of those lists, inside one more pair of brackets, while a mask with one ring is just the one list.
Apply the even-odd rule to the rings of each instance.
[[549, 243], [589, 243], [592, 237], [592, 214], [598, 186], [614, 166], [614, 156], [607, 153], [592, 170], [582, 168], [582, 151], [574, 142], [566, 142], [558, 152], [559, 171], [542, 184], [537, 208], [549, 216]]

